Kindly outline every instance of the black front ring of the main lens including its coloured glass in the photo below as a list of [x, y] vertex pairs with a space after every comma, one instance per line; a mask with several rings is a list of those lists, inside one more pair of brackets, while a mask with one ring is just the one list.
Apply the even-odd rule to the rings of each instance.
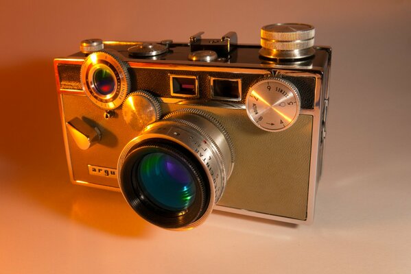
[[121, 164], [121, 191], [144, 219], [184, 229], [207, 211], [211, 188], [193, 155], [174, 142], [150, 139], [133, 147]]

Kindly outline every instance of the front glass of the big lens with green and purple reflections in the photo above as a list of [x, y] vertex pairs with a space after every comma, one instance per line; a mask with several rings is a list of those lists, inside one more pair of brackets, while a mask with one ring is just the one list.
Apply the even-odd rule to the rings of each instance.
[[138, 184], [152, 203], [165, 210], [185, 210], [196, 196], [187, 166], [167, 153], [145, 155], [137, 166]]

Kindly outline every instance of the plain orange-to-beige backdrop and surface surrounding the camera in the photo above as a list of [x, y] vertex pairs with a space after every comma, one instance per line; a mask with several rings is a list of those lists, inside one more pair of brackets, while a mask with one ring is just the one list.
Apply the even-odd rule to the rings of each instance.
[[[410, 0], [2, 1], [0, 273], [410, 273], [410, 14]], [[214, 213], [169, 232], [69, 183], [53, 58], [95, 37], [259, 43], [277, 22], [333, 47], [313, 225]]]

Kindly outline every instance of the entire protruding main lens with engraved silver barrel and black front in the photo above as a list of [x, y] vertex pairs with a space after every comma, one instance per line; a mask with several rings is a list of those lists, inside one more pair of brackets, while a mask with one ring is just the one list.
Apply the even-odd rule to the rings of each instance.
[[213, 116], [179, 110], [124, 147], [119, 185], [134, 211], [150, 223], [190, 229], [222, 196], [233, 162], [231, 139]]

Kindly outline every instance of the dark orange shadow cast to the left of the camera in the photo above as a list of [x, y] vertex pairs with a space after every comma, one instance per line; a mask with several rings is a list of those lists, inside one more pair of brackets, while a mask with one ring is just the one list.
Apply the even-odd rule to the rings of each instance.
[[109, 234], [145, 237], [143, 221], [119, 192], [74, 186], [64, 153], [53, 60], [0, 69], [0, 158], [8, 188], [72, 221]]

